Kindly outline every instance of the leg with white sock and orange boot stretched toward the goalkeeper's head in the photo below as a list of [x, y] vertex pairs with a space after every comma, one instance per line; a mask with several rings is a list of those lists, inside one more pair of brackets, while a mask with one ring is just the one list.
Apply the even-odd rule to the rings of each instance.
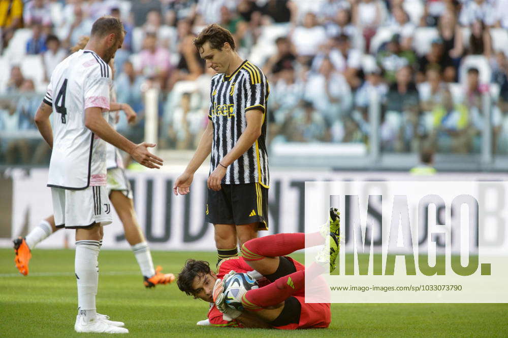
[[144, 277], [144, 284], [146, 287], [153, 287], [156, 284], [168, 284], [175, 280], [173, 274], [163, 274], [162, 268], [153, 268], [152, 255], [145, 237], [141, 232], [136, 211], [134, 211], [134, 204], [132, 199], [126, 197], [121, 191], [112, 191], [109, 199], [120, 218], [123, 230], [125, 232], [125, 239], [132, 247], [136, 260], [138, 261], [141, 273]]

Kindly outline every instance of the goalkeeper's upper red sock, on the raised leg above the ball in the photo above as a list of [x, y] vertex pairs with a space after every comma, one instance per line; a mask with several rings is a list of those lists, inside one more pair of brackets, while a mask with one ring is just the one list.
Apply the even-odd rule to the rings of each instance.
[[277, 234], [254, 238], [242, 246], [245, 260], [260, 260], [264, 257], [285, 256], [305, 247], [305, 234]]

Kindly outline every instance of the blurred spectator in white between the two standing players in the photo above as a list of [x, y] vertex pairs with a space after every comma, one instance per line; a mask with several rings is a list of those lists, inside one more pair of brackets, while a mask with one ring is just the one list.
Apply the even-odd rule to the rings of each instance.
[[206, 116], [199, 108], [193, 109], [191, 95], [191, 93], [183, 93], [180, 104], [171, 111], [168, 136], [176, 149], [196, 148], [203, 131], [203, 121]]

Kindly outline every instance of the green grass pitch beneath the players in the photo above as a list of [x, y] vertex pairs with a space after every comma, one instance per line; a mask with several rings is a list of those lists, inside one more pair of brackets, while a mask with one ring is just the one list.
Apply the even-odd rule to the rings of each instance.
[[[152, 255], [156, 265], [174, 273], [189, 257], [215, 261], [212, 252]], [[508, 336], [508, 304], [332, 304], [328, 329], [198, 327], [208, 305], [174, 284], [145, 289], [132, 252], [102, 250], [99, 261], [98, 311], [124, 321], [131, 336]], [[14, 266], [13, 250], [0, 249], [0, 336], [78, 336], [76, 307], [74, 250], [34, 250], [24, 277]]]

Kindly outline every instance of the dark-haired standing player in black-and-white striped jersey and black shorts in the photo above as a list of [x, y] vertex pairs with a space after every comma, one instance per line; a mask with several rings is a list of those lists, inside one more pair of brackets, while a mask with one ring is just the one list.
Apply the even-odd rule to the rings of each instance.
[[238, 55], [227, 29], [209, 25], [194, 44], [217, 74], [210, 86], [208, 126], [173, 189], [175, 195], [188, 194], [194, 173], [211, 152], [205, 214], [214, 225], [220, 261], [238, 255], [237, 244], [256, 238], [258, 230], [268, 230], [269, 87], [261, 69]]

